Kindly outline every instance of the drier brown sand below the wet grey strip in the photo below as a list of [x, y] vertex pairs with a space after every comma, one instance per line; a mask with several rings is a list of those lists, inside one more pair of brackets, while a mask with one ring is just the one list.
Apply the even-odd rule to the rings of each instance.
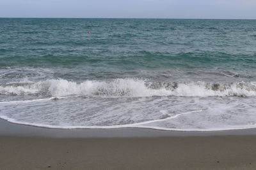
[[0, 141], [0, 169], [256, 169], [256, 136]]

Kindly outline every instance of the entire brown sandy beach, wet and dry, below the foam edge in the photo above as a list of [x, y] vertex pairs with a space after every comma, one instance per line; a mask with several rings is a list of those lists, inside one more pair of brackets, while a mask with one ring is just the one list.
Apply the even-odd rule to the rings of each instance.
[[256, 129], [47, 129], [0, 120], [2, 169], [256, 169]]

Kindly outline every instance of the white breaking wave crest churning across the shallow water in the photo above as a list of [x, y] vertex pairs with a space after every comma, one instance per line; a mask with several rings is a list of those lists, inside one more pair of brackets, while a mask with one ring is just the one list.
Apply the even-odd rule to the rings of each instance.
[[150, 82], [138, 79], [112, 81], [87, 80], [76, 83], [67, 80], [45, 80], [36, 83], [0, 85], [0, 94], [45, 94], [50, 96], [102, 96], [102, 97], [152, 97], [152, 96], [256, 96], [256, 82], [206, 83]]

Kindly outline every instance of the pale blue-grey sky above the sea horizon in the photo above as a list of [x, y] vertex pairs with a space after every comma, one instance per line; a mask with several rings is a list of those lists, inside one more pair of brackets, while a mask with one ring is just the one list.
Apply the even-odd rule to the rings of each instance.
[[0, 0], [0, 17], [256, 19], [256, 0]]

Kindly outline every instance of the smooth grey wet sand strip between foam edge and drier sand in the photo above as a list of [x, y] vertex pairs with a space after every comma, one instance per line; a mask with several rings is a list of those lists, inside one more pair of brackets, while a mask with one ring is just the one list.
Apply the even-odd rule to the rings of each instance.
[[0, 119], [0, 136], [38, 138], [159, 138], [181, 136], [256, 136], [256, 129], [227, 131], [164, 131], [140, 127], [117, 129], [51, 129]]

